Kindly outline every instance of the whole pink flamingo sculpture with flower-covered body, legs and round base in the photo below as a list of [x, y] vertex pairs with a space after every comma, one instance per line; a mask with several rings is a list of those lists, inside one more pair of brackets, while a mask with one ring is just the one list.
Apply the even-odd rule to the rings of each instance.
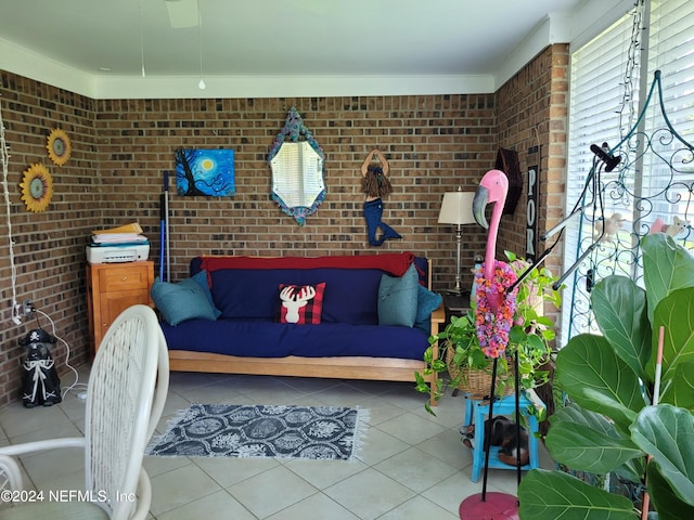
[[[493, 416], [494, 388], [497, 385], [497, 364], [500, 355], [505, 351], [507, 342], [507, 332], [512, 324], [513, 310], [515, 308], [515, 290], [506, 291], [517, 276], [510, 265], [499, 262], [496, 259], [497, 235], [499, 234], [499, 223], [503, 206], [509, 193], [509, 179], [500, 170], [489, 170], [481, 178], [479, 187], [473, 199], [473, 216], [475, 221], [485, 229], [488, 229], [487, 249], [485, 263], [481, 273], [476, 273], [475, 298], [477, 303], [477, 337], [480, 347], [487, 355], [493, 358], [491, 373], [491, 390], [489, 401], [489, 418]], [[493, 204], [491, 210], [491, 222], [487, 223], [485, 208]], [[511, 321], [509, 320], [511, 318]], [[493, 338], [493, 339], [491, 339]], [[491, 344], [496, 342], [497, 344]], [[518, 373], [516, 366], [516, 375]], [[518, 421], [518, 384], [516, 381], [516, 422]], [[477, 428], [483, 425], [476, 425]], [[486, 458], [480, 495], [472, 495], [465, 498], [460, 505], [460, 517], [466, 520], [476, 519], [517, 519], [517, 499], [505, 493], [490, 493], [487, 496], [487, 472], [489, 469], [490, 448], [485, 439]], [[518, 478], [519, 478], [518, 466]], [[489, 498], [489, 500], [487, 500]]]

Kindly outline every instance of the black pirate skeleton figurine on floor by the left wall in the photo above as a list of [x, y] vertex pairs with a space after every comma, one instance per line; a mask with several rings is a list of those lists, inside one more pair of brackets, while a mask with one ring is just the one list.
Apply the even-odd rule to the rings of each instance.
[[56, 339], [42, 328], [29, 330], [20, 339], [20, 344], [27, 347], [22, 363], [22, 402], [27, 408], [39, 404], [52, 406], [62, 401], [61, 380], [49, 349], [55, 342]]

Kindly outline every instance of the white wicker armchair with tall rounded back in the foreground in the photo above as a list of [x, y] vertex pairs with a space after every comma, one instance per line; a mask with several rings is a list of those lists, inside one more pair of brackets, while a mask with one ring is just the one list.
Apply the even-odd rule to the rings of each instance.
[[146, 518], [152, 487], [142, 459], [162, 416], [168, 385], [166, 340], [154, 311], [146, 306], [125, 310], [94, 358], [87, 390], [86, 435], [0, 448], [0, 486], [15, 490], [21, 489], [16, 486], [21, 486], [22, 473], [14, 456], [63, 447], [83, 450], [86, 492], [69, 495], [69, 500], [51, 500], [44, 492], [41, 502], [0, 509], [0, 519]]

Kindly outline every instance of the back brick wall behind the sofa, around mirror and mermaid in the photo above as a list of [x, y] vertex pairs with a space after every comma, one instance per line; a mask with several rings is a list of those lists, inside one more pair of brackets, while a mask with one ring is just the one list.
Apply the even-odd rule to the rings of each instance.
[[[97, 103], [104, 222], [125, 214], [145, 226], [158, 258], [159, 194], [178, 147], [233, 148], [233, 197], [170, 196], [171, 276], [191, 257], [224, 255], [369, 255], [411, 250], [439, 268], [435, 285], [450, 283], [450, 229], [436, 223], [445, 191], [474, 190], [493, 160], [493, 95], [253, 100], [103, 101]], [[325, 152], [327, 196], [299, 226], [270, 198], [267, 164], [272, 143], [296, 106]], [[401, 240], [368, 243], [360, 167], [380, 148], [394, 193], [384, 221]], [[138, 197], [132, 198], [133, 185]], [[127, 220], [127, 219], [126, 219]], [[471, 244], [481, 237], [477, 233]], [[442, 243], [442, 247], [441, 247]], [[472, 260], [466, 252], [464, 260]]]

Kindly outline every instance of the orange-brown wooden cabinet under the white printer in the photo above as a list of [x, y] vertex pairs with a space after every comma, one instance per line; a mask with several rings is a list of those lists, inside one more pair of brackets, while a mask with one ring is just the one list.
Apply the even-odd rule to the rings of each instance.
[[118, 314], [137, 303], [153, 307], [154, 262], [87, 264], [87, 300], [92, 355]]

